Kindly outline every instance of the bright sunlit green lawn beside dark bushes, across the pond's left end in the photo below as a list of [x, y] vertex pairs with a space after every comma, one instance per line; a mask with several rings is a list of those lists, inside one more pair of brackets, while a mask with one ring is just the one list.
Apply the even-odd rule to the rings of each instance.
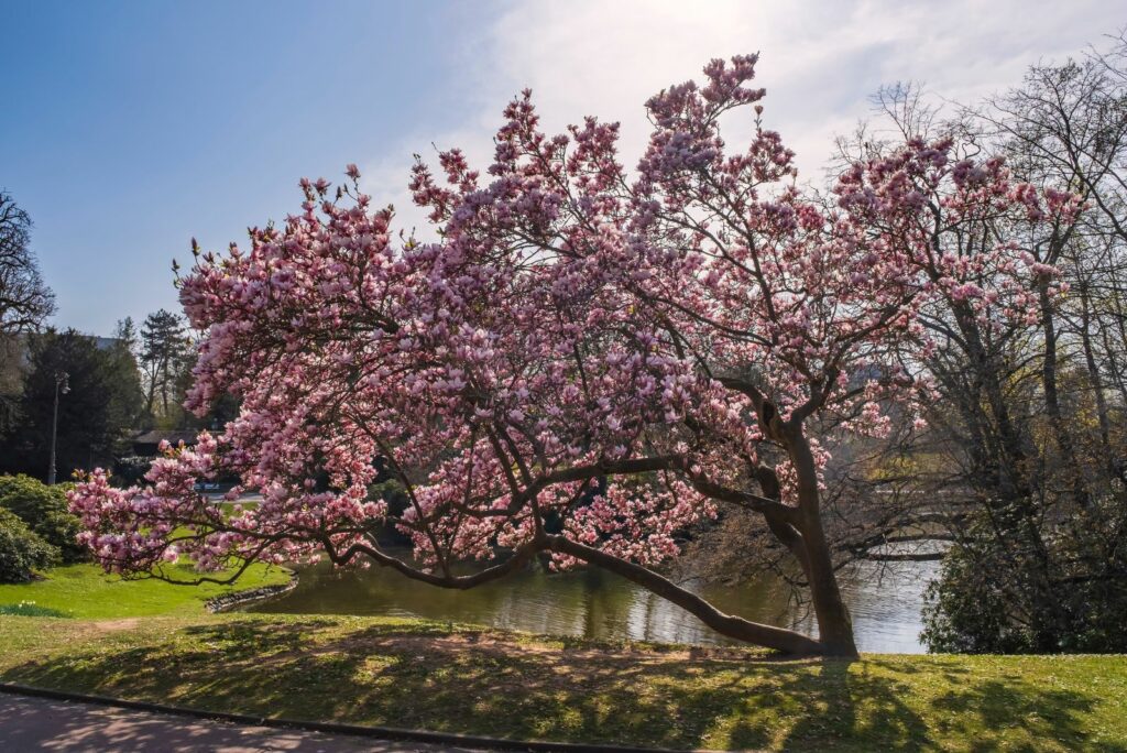
[[[194, 575], [187, 566], [178, 565], [171, 569], [178, 578], [188, 579]], [[85, 619], [202, 614], [204, 602], [212, 596], [277, 585], [290, 579], [289, 570], [257, 564], [250, 566], [232, 586], [176, 585], [154, 578], [123, 581], [89, 564], [55, 567], [43, 575], [43, 579], [32, 583], [0, 585], [0, 610], [7, 608], [10, 613], [20, 602], [32, 602], [41, 610], [52, 610], [54, 617]]]

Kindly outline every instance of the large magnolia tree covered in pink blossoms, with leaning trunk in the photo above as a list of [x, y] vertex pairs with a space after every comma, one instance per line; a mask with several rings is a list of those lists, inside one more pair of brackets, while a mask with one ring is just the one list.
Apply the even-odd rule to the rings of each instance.
[[[179, 281], [204, 333], [189, 407], [239, 417], [169, 449], [143, 487], [96, 471], [71, 494], [109, 569], [201, 581], [249, 562], [380, 565], [450, 588], [544, 555], [604, 567], [715, 630], [795, 654], [854, 655], [823, 529], [827, 438], [880, 435], [925, 389], [905, 348], [935, 296], [983, 321], [1036, 316], [1051, 268], [990, 232], [1063, 211], [1000, 163], [905, 144], [829, 197], [795, 183], [762, 127], [754, 56], [647, 103], [637, 169], [618, 125], [547, 135], [530, 92], [505, 110], [486, 175], [458, 150], [418, 163], [440, 240], [397, 242], [349, 180], [302, 181], [301, 214], [199, 254]], [[721, 119], [753, 132], [740, 150]], [[951, 239], [974, 238], [967, 258]], [[1032, 312], [1032, 313], [1031, 313]], [[378, 469], [409, 502], [370, 494]], [[194, 484], [238, 475], [261, 504], [224, 512]], [[725, 506], [761, 514], [809, 585], [817, 636], [725, 614], [654, 568]], [[391, 524], [414, 557], [380, 546]], [[480, 560], [472, 575], [454, 562]], [[207, 575], [212, 572], [212, 575]]]

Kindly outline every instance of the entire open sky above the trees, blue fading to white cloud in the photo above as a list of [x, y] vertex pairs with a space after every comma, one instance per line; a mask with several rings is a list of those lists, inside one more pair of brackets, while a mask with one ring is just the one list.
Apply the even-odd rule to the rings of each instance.
[[[702, 8], [707, 8], [702, 10]], [[418, 220], [412, 151], [489, 153], [508, 97], [623, 123], [712, 56], [761, 51], [769, 125], [816, 174], [882, 83], [973, 99], [1127, 24], [1127, 0], [90, 2], [0, 0], [0, 187], [35, 222], [54, 324], [176, 309], [170, 262], [281, 219], [347, 162]]]

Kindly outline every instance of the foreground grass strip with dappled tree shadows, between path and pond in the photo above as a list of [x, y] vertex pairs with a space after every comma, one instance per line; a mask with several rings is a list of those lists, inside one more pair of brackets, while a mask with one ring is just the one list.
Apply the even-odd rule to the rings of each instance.
[[773, 659], [391, 618], [0, 617], [0, 679], [211, 710], [764, 750], [1127, 751], [1127, 657]]

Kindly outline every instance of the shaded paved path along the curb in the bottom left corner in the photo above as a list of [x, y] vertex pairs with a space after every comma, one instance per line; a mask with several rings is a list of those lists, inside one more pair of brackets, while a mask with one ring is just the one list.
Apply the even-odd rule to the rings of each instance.
[[272, 727], [246, 727], [165, 714], [150, 714], [90, 703], [0, 693], [0, 751], [157, 751], [180, 753], [254, 753], [295, 751], [339, 753], [375, 751], [463, 751], [424, 743], [384, 742], [348, 735]]

